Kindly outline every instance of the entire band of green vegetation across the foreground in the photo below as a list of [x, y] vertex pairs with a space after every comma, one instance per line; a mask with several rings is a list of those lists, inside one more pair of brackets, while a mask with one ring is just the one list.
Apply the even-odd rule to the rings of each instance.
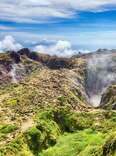
[[[34, 126], [0, 148], [2, 156], [116, 156], [116, 112], [39, 110]], [[5, 130], [5, 132], [7, 132]]]

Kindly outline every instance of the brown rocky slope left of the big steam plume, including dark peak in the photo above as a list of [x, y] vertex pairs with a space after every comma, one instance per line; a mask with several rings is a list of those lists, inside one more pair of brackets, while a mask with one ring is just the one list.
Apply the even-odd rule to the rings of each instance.
[[4, 54], [9, 57], [10, 62], [7, 65], [1, 63], [2, 120], [11, 120], [17, 114], [20, 117], [33, 114], [36, 108], [48, 105], [66, 104], [77, 111], [89, 109], [84, 88], [84, 59], [57, 59], [38, 55], [35, 61], [30, 59], [27, 49], [22, 51], [12, 52], [15, 54], [13, 57], [12, 53]]

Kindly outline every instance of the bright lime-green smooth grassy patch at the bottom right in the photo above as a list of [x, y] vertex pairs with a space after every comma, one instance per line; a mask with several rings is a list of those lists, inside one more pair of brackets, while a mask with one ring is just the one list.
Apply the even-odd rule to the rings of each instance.
[[98, 155], [100, 146], [104, 143], [105, 135], [91, 129], [64, 134], [59, 137], [57, 144], [43, 151], [40, 156], [92, 156]]

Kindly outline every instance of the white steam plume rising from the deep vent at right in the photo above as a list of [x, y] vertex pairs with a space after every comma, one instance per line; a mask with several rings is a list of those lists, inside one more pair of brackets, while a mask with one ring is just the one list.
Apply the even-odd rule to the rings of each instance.
[[88, 60], [86, 88], [89, 103], [100, 105], [103, 92], [116, 82], [116, 57], [112, 54], [96, 54]]

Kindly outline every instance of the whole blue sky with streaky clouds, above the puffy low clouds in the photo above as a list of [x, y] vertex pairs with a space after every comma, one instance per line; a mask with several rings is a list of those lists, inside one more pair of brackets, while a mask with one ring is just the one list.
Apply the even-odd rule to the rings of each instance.
[[12, 36], [26, 47], [116, 48], [116, 0], [1, 0], [0, 10], [0, 45]]

